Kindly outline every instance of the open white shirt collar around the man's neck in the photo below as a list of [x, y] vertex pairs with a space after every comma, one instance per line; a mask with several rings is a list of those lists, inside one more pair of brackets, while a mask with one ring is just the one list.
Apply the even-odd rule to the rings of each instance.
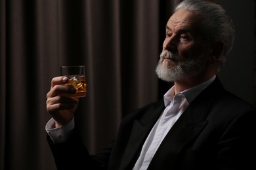
[[[209, 84], [211, 84], [211, 82], [213, 82], [213, 80], [215, 80], [215, 78], [216, 78], [216, 75], [211, 77], [209, 80], [202, 82], [201, 84], [198, 84], [192, 88], [184, 90], [180, 93], [177, 93], [176, 95], [184, 95], [184, 97], [186, 97], [186, 100], [188, 101], [188, 103], [191, 103], [200, 92], [202, 92], [207, 86], [209, 86]], [[163, 101], [165, 103], [165, 107], [167, 107], [167, 105], [169, 105], [171, 103], [171, 101], [173, 101], [174, 97], [175, 97], [174, 86], [172, 86], [171, 89], [168, 90], [163, 95]]]

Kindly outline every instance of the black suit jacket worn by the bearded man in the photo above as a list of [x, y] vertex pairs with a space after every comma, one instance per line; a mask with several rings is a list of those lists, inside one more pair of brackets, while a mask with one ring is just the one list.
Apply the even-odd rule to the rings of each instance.
[[[115, 141], [90, 156], [79, 135], [49, 144], [58, 169], [133, 169], [163, 100], [126, 116]], [[256, 169], [256, 110], [224, 90], [216, 78], [200, 93], [160, 144], [148, 169]]]

